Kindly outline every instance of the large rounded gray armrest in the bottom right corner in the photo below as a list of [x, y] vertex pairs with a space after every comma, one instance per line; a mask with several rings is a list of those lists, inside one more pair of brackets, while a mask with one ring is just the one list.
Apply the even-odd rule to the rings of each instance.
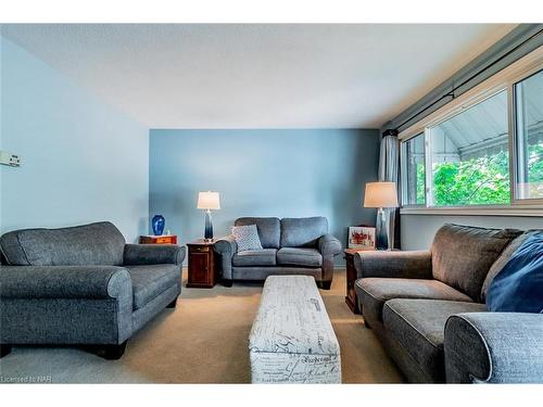
[[543, 315], [458, 314], [445, 325], [451, 383], [542, 383]]

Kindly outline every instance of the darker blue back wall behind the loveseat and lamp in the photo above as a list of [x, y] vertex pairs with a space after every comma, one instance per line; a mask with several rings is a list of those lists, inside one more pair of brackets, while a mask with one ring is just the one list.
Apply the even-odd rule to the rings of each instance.
[[181, 243], [202, 238], [198, 192], [218, 191], [215, 237], [241, 216], [323, 215], [345, 245], [349, 226], [375, 225], [362, 199], [378, 149], [378, 130], [151, 130], [149, 215]]

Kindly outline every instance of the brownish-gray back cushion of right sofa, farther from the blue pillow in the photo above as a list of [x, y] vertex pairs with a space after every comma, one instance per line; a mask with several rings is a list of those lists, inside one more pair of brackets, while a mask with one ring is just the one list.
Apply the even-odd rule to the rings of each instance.
[[490, 267], [521, 233], [516, 229], [445, 224], [435, 233], [431, 247], [433, 278], [481, 302], [481, 288]]

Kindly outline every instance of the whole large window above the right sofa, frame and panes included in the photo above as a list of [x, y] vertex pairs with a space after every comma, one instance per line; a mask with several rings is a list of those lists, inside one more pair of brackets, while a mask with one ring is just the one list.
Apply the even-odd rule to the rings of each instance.
[[403, 213], [541, 216], [543, 48], [399, 138]]

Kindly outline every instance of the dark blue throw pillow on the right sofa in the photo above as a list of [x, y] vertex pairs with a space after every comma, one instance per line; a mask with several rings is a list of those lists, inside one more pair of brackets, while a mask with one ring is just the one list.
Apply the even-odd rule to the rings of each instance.
[[527, 239], [490, 284], [491, 311], [543, 313], [543, 233]]

